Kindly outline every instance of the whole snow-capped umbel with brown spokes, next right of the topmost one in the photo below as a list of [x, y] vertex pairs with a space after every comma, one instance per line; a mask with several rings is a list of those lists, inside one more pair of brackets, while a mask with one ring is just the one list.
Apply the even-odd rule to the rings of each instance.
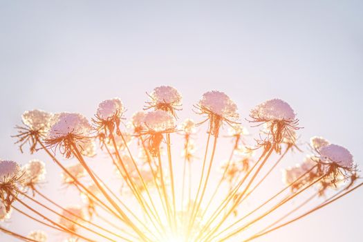
[[209, 132], [217, 137], [223, 122], [233, 126], [239, 118], [237, 105], [221, 91], [204, 93], [196, 108], [199, 114], [207, 115], [207, 120], [203, 122], [209, 121]]

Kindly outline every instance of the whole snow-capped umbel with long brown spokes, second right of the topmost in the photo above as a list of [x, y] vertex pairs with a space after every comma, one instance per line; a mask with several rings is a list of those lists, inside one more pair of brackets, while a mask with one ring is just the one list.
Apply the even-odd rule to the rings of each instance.
[[292, 131], [299, 129], [299, 120], [295, 117], [295, 112], [291, 106], [279, 99], [272, 99], [263, 102], [250, 111], [250, 122], [257, 122], [258, 125], [266, 124], [268, 129], [267, 141], [272, 148], [281, 152], [280, 144], [286, 137], [294, 140]]

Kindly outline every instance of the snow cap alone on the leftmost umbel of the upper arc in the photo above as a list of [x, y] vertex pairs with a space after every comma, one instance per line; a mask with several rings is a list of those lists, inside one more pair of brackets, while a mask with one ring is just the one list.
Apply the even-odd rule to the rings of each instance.
[[25, 111], [21, 118], [31, 130], [46, 132], [49, 129], [49, 121], [53, 117], [52, 113], [34, 109], [32, 111]]

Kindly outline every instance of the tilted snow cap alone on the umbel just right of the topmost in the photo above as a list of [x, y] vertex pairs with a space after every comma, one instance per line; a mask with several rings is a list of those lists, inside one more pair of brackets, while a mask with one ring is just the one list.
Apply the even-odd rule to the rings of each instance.
[[208, 111], [225, 119], [235, 120], [239, 118], [236, 113], [237, 105], [221, 91], [208, 91], [204, 93], [198, 105], [202, 111]]

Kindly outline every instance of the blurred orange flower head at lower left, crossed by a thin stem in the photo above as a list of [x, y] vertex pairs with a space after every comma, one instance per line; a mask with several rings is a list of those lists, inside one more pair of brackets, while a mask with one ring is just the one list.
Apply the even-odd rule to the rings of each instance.
[[78, 225], [69, 221], [67, 218], [76, 223], [81, 223], [86, 216], [80, 206], [69, 206], [63, 210], [62, 216], [59, 218], [59, 224], [66, 227], [68, 230], [75, 232], [77, 231]]

